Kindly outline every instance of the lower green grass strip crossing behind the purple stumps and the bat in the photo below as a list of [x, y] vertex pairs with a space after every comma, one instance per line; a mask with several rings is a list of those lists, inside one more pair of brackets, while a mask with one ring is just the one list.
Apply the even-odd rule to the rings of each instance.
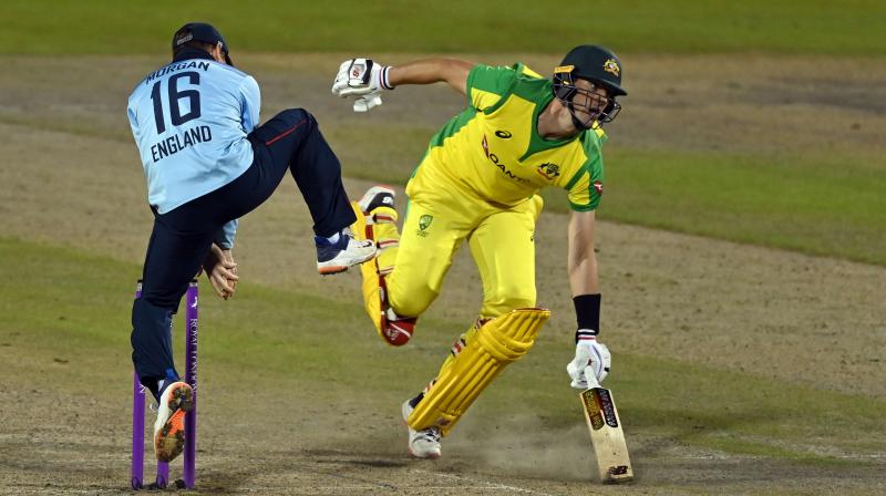
[[[120, 391], [117, 391], [114, 396], [125, 404], [121, 370], [128, 366], [128, 302], [138, 267], [0, 238], [0, 270], [16, 281], [0, 286], [0, 345], [19, 359], [4, 365], [7, 373], [40, 376], [45, 388], [69, 393], [86, 391], [95, 381], [120, 383]], [[222, 302], [209, 297], [208, 286], [204, 291], [204, 380], [261, 378], [292, 397], [348, 397], [367, 414], [389, 411], [430, 378], [443, 343], [460, 329], [424, 320], [421, 339], [391, 349], [372, 332], [358, 296], [342, 302], [244, 285], [236, 300]], [[691, 448], [825, 465], [846, 463], [843, 455], [874, 454], [883, 445], [883, 399], [649, 356], [622, 353], [618, 359], [619, 373], [607, 384], [617, 392], [633, 440], [667, 438]], [[543, 334], [477, 403], [476, 422], [503, 414], [507, 423], [513, 412], [524, 412], [543, 418], [552, 432], [580, 423], [563, 360], [564, 343]]]

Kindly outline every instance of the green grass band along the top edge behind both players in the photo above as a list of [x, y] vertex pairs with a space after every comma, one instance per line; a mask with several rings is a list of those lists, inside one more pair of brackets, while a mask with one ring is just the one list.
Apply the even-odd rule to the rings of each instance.
[[886, 53], [886, 3], [749, 0], [568, 2], [0, 2], [0, 53], [155, 53], [185, 20], [207, 20], [234, 50], [261, 52], [560, 52], [594, 41], [652, 53]]

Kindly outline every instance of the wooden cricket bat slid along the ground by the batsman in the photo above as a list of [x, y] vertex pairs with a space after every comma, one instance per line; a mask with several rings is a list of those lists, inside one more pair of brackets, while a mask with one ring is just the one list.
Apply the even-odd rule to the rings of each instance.
[[585, 407], [585, 420], [597, 455], [600, 482], [618, 484], [631, 480], [633, 469], [612, 393], [600, 386], [590, 368], [585, 370], [585, 376], [588, 379], [588, 389], [580, 392], [578, 397]]

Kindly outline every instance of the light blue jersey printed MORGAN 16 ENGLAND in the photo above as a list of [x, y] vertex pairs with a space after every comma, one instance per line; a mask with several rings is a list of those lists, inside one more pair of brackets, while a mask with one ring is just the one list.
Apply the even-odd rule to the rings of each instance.
[[[253, 163], [246, 135], [260, 106], [253, 76], [210, 59], [175, 61], [142, 80], [127, 113], [147, 202], [165, 214], [245, 173]], [[233, 247], [236, 229], [228, 223], [216, 242]]]

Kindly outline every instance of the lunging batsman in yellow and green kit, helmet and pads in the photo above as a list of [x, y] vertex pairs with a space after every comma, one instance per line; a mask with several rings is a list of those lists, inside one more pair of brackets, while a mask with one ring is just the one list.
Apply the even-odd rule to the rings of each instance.
[[[395, 84], [444, 81], [467, 107], [429, 144], [406, 185], [409, 204], [398, 230], [394, 192], [370, 188], [353, 204], [354, 235], [372, 239], [375, 260], [361, 266], [367, 312], [388, 343], [409, 341], [416, 319], [440, 293], [455, 251], [467, 242], [483, 280], [483, 306], [455, 342], [440, 373], [402, 405], [410, 452], [440, 456], [440, 438], [511, 362], [533, 345], [549, 311], [535, 308], [535, 224], [543, 187], [566, 189], [575, 210], [569, 227], [569, 282], [578, 320], [573, 388], [585, 374], [608, 373], [609, 352], [596, 342], [599, 293], [594, 256], [594, 213], [604, 168], [599, 123], [620, 110], [620, 62], [596, 45], [570, 51], [553, 80], [523, 64], [471, 65], [451, 59], [400, 68], [369, 59], [342, 63], [332, 93], [359, 96], [354, 110], [381, 104]], [[574, 372], [573, 369], [580, 371]]]

